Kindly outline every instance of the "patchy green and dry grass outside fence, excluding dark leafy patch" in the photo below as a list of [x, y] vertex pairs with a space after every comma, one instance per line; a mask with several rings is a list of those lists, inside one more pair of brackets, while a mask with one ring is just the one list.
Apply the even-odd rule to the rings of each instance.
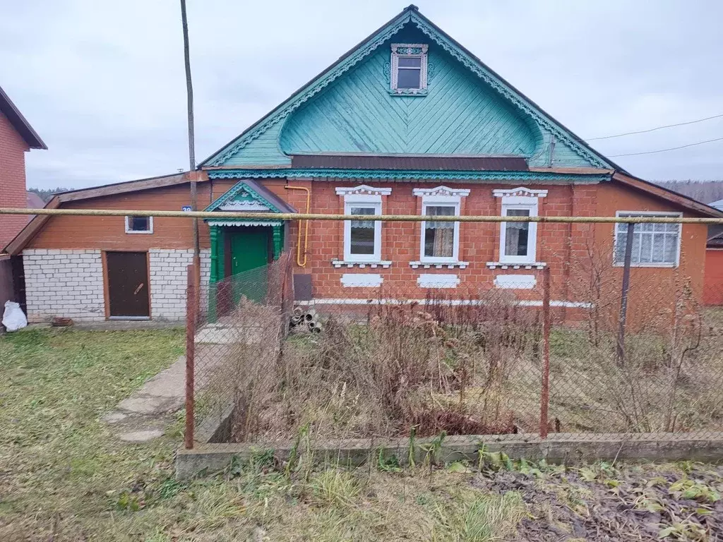
[[444, 471], [431, 479], [426, 469], [287, 475], [260, 455], [177, 482], [180, 423], [161, 439], [129, 445], [99, 418], [182, 348], [181, 330], [0, 337], [0, 541], [466, 539], [461, 520], [447, 525], [436, 511], [450, 517], [445, 507], [455, 502], [454, 514], [463, 514], [484, 492], [470, 491], [469, 476]]

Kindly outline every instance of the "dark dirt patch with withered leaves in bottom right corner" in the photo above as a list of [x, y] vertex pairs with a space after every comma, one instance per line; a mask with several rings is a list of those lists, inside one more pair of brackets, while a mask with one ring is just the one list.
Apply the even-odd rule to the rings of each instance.
[[723, 468], [711, 465], [522, 468], [476, 476], [484, 491], [521, 494], [520, 541], [718, 541]]

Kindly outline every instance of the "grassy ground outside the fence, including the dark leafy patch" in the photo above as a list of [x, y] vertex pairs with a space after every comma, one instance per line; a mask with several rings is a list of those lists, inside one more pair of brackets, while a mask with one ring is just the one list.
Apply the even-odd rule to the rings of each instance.
[[[489, 457], [174, 480], [182, 421], [122, 444], [100, 416], [183, 353], [181, 330], [0, 337], [0, 541], [713, 540], [723, 470], [565, 469]], [[667, 529], [667, 531], [665, 531]], [[607, 538], [606, 538], [607, 537]]]

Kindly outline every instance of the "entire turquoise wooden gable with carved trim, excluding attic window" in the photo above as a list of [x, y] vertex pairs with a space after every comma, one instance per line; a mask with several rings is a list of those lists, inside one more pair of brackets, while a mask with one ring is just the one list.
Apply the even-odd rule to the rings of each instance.
[[[390, 93], [393, 43], [428, 46], [424, 95]], [[530, 166], [612, 168], [414, 7], [202, 165], [291, 165], [290, 155], [325, 152], [513, 155]]]

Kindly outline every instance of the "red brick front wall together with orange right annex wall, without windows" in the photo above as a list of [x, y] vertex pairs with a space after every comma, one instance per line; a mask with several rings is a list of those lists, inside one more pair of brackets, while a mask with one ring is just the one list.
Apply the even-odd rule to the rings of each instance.
[[[357, 186], [358, 181], [315, 180], [304, 183], [312, 188], [310, 212], [343, 212], [343, 196], [335, 194], [337, 186]], [[390, 187], [390, 196], [382, 196], [382, 213], [393, 215], [421, 214], [422, 198], [412, 194], [419, 184], [402, 182], [367, 182], [370, 186]], [[470, 195], [462, 198], [462, 215], [500, 215], [501, 200], [492, 194], [496, 188], [510, 188], [510, 184], [465, 184], [446, 183], [454, 188], [470, 189]], [[437, 186], [425, 184], [424, 186]], [[617, 210], [661, 210], [676, 211], [672, 205], [647, 194], [628, 189], [619, 184], [549, 184], [534, 186], [547, 189], [547, 197], [539, 199], [539, 214], [547, 216], [612, 216]], [[278, 192], [283, 197], [282, 192]], [[304, 210], [305, 195], [288, 195], [289, 201], [300, 211]], [[303, 228], [303, 224], [301, 226]], [[343, 259], [343, 223], [313, 221], [309, 224], [307, 265], [297, 267], [295, 272], [312, 275], [315, 297], [319, 298], [364, 298], [369, 289], [343, 288], [341, 277], [344, 273], [373, 273], [384, 279], [383, 288], [390, 296], [424, 298], [427, 291], [416, 286], [421, 274], [455, 274], [461, 279], [456, 293], [484, 291], [495, 288], [496, 275], [535, 275], [538, 282], [533, 290], [515, 290], [518, 298], [539, 301], [542, 299], [542, 271], [521, 268], [505, 270], [499, 267], [491, 270], [486, 262], [495, 262], [500, 257], [499, 223], [462, 223], [460, 226], [459, 259], [470, 262], [469, 267], [460, 269], [412, 269], [410, 261], [419, 260], [421, 225], [419, 223], [385, 223], [382, 225], [382, 260], [392, 262], [388, 269], [381, 267], [364, 269], [359, 267], [335, 268], [333, 259]], [[291, 248], [296, 250], [296, 225], [292, 226]], [[604, 299], [599, 303], [607, 306], [604, 317], [617, 317], [620, 306], [620, 280], [622, 269], [612, 266], [613, 248], [612, 224], [543, 224], [537, 230], [537, 261], [548, 264], [551, 272], [553, 301], [589, 302], [591, 294], [589, 278], [591, 262], [604, 269]], [[644, 322], [650, 311], [661, 311], [671, 306], [675, 291], [682, 281], [689, 280], [696, 296], [700, 296], [703, 284], [702, 262], [705, 249], [706, 228], [685, 225], [681, 241], [681, 261], [677, 268], [634, 268], [630, 291], [630, 322]], [[301, 238], [303, 243], [303, 236]], [[302, 256], [303, 259], [303, 256]], [[697, 262], [697, 263], [696, 263]], [[646, 310], [649, 311], [646, 313]], [[561, 309], [561, 317], [581, 318], [580, 310]]]

